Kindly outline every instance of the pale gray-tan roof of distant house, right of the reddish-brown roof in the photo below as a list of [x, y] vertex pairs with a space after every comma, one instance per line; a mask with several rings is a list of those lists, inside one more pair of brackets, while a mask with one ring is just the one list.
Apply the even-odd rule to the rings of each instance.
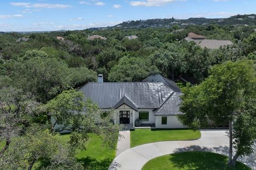
[[220, 47], [226, 47], [233, 45], [230, 40], [216, 40], [216, 39], [205, 39], [199, 44], [202, 48], [218, 49]]

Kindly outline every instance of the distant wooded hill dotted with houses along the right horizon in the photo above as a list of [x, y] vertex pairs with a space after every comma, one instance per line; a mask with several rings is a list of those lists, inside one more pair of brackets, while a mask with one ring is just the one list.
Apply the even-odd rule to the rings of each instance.
[[189, 19], [149, 19], [149, 20], [137, 20], [137, 21], [125, 21], [114, 27], [117, 28], [147, 28], [147, 27], [171, 27], [172, 25], [256, 25], [256, 14], [235, 15], [230, 18], [189, 18]]

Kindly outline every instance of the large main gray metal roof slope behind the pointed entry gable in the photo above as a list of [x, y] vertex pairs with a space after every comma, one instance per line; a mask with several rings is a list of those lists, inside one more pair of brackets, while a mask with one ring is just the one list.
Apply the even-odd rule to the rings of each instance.
[[137, 108], [158, 108], [174, 92], [163, 82], [87, 83], [80, 90], [100, 108], [114, 108], [124, 96]]

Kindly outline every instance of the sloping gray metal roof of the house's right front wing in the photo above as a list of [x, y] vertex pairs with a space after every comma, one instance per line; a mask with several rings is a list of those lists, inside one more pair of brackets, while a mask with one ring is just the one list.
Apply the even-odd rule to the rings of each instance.
[[181, 103], [180, 92], [174, 92], [165, 103], [154, 111], [154, 115], [181, 115], [179, 105]]

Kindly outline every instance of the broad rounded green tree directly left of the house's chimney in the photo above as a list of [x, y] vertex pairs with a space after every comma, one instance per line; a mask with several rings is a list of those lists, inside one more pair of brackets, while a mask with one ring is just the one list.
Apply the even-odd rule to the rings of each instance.
[[45, 103], [63, 90], [95, 81], [96, 73], [86, 67], [69, 68], [57, 58], [31, 58], [15, 62], [9, 70], [14, 86], [31, 92], [38, 101]]

